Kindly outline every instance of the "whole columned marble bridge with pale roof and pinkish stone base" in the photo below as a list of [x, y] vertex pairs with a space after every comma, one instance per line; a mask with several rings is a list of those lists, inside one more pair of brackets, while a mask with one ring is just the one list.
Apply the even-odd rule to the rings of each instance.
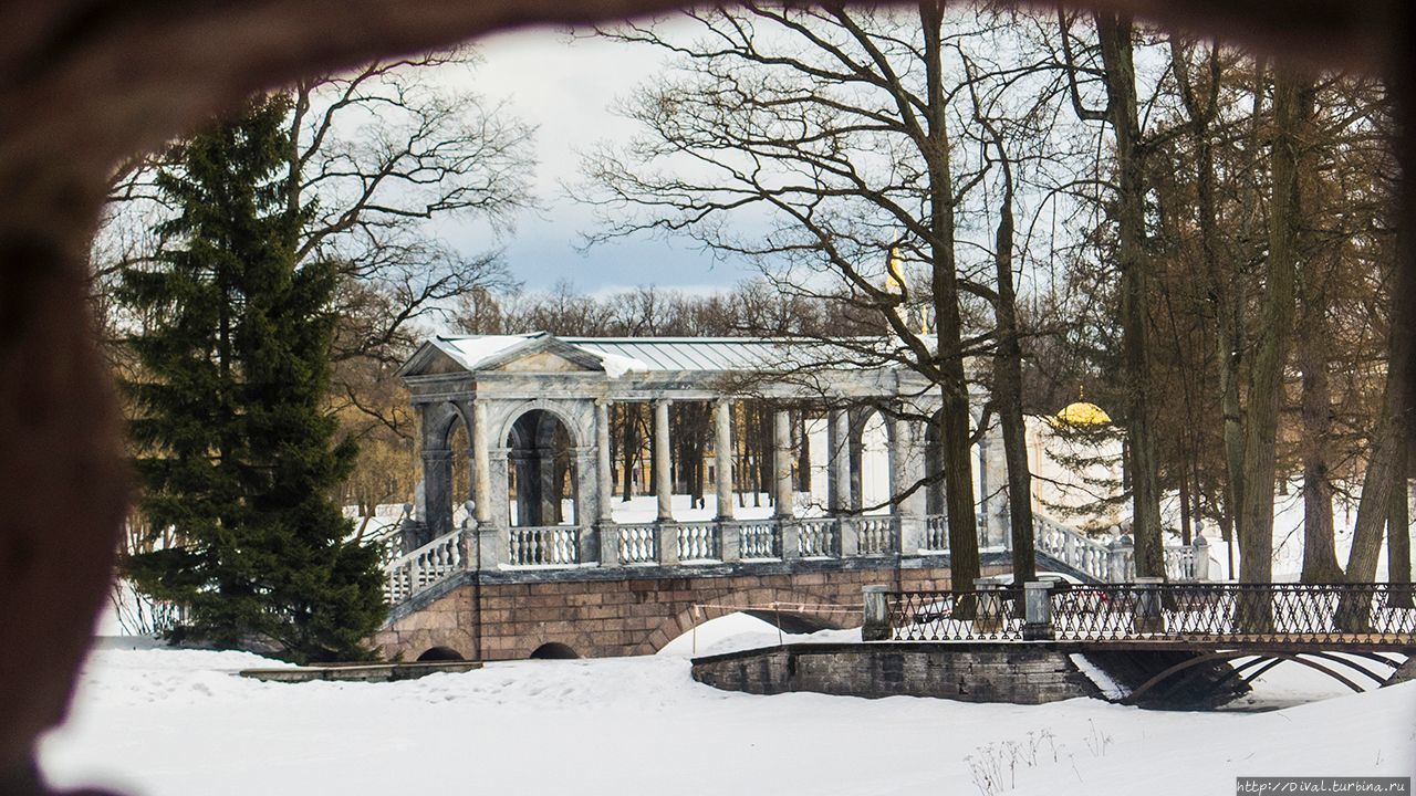
[[[701, 605], [719, 615], [777, 606], [797, 627], [833, 627], [860, 623], [867, 585], [949, 589], [942, 484], [926, 477], [939, 472], [937, 390], [902, 368], [855, 364], [860, 348], [545, 333], [428, 341], [399, 371], [422, 423], [423, 489], [389, 554], [381, 652], [647, 654], [701, 622]], [[977, 425], [983, 395], [970, 402]], [[623, 405], [651, 416], [656, 511], [646, 521], [615, 516], [624, 503], [615, 484], [627, 480], [615, 466], [633, 459], [613, 422], [627, 416]], [[671, 422], [685, 405], [711, 423], [707, 518], [675, 516], [694, 465], [671, 439], [692, 431]], [[748, 408], [770, 423], [752, 426]], [[459, 429], [466, 450], [455, 449]], [[983, 428], [973, 448], [986, 575], [1011, 568], [997, 435]], [[885, 466], [872, 469], [871, 456]], [[735, 507], [760, 486], [770, 516]], [[1041, 569], [1092, 582], [1134, 575], [1124, 537], [1102, 544], [1045, 517], [1034, 530]], [[1202, 581], [1209, 552], [1202, 540], [1171, 547], [1165, 564], [1171, 579]]]

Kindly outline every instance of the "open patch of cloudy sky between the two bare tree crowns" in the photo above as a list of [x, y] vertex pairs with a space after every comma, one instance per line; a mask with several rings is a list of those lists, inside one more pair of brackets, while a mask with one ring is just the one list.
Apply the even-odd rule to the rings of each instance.
[[[513, 273], [528, 289], [568, 279], [588, 292], [637, 285], [701, 290], [749, 276], [741, 265], [715, 263], [685, 238], [643, 237], [576, 251], [595, 218], [589, 207], [566, 195], [562, 183], [576, 181], [579, 150], [633, 130], [610, 106], [660, 68], [658, 52], [555, 30], [501, 34], [479, 42], [477, 51], [483, 62], [473, 89], [489, 101], [507, 101], [513, 113], [537, 127], [534, 184], [544, 210], [523, 214], [501, 242]], [[472, 225], [442, 234], [467, 252], [496, 245]]]

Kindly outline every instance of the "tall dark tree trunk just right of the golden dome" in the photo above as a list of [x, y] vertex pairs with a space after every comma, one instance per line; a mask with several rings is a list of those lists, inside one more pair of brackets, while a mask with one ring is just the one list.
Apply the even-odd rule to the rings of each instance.
[[1121, 363], [1129, 388], [1126, 452], [1131, 476], [1131, 533], [1136, 540], [1136, 574], [1163, 578], [1164, 551], [1160, 530], [1155, 435], [1150, 416], [1150, 344], [1147, 327], [1148, 262], [1146, 244], [1144, 153], [1136, 105], [1136, 65], [1131, 61], [1131, 18], [1097, 14], [1102, 64], [1106, 81], [1107, 120], [1116, 135], [1116, 259], [1121, 269]]

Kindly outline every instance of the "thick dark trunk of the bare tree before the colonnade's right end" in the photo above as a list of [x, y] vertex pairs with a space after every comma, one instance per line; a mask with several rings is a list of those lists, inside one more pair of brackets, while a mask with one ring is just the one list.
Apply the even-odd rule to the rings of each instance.
[[[964, 377], [963, 322], [959, 313], [959, 275], [954, 263], [954, 191], [949, 164], [947, 103], [943, 88], [944, 7], [940, 0], [919, 4], [925, 33], [927, 137], [920, 142], [929, 167], [929, 254], [937, 334], [939, 439], [943, 448], [944, 504], [949, 514], [949, 550], [956, 595], [973, 591], [980, 575], [978, 530], [973, 499], [973, 462], [969, 459], [969, 382]], [[966, 606], [961, 605], [960, 608]], [[956, 615], [957, 616], [957, 615]], [[967, 616], [959, 616], [966, 619]]]

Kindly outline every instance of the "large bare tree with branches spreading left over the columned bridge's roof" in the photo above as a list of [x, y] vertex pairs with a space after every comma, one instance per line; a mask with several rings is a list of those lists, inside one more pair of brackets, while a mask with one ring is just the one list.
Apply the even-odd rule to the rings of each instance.
[[[956, 252], [957, 214], [987, 166], [970, 161], [952, 126], [964, 123], [953, 106], [967, 82], [959, 40], [988, 17], [946, 25], [944, 16], [935, 0], [908, 10], [749, 3], [688, 14], [695, 34], [607, 31], [677, 55], [680, 69], [626, 106], [646, 133], [590, 153], [586, 173], [590, 200], [606, 210], [595, 239], [687, 234], [758, 262], [779, 292], [831, 295], [889, 340], [823, 334], [843, 360], [927, 378], [943, 411], [919, 419], [942, 440], [954, 584], [967, 589], [978, 554], [964, 358], [990, 351], [995, 336], [969, 323], [970, 296], [997, 292], [986, 285], [991, 268], [978, 268], [980, 279]], [[889, 285], [891, 251], [919, 278]], [[919, 303], [932, 310], [929, 333], [903, 312]]]

